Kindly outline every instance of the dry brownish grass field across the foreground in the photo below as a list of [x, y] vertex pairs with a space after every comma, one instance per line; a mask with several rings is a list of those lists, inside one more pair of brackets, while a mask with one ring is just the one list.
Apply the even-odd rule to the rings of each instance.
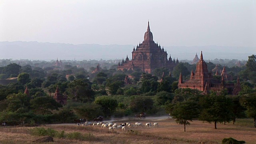
[[[223, 138], [234, 138], [244, 140], [246, 144], [256, 144], [256, 128], [253, 127], [253, 120], [239, 119], [236, 124], [217, 124], [218, 129], [214, 129], [214, 124], [193, 121], [183, 132], [183, 126], [176, 124], [172, 119], [166, 120], [126, 120], [113, 121], [120, 124], [122, 122], [158, 122], [158, 127], [126, 127], [125, 131], [120, 129], [109, 131], [101, 127], [72, 125], [48, 125], [40, 126], [53, 128], [65, 133], [80, 132], [82, 134], [92, 134], [90, 140], [71, 140], [67, 138], [55, 138], [54, 144], [221, 144]], [[0, 127], [0, 144], [27, 144], [34, 143], [34, 140], [43, 136], [32, 136], [28, 129], [33, 127]]]

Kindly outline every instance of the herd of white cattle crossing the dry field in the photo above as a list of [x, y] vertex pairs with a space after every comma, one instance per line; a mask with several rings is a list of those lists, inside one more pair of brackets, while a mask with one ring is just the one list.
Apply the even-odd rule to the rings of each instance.
[[[104, 122], [97, 122], [97, 123], [93, 123], [93, 122], [85, 122], [84, 124], [80, 124], [80, 123], [77, 123], [78, 126], [99, 126], [99, 127], [102, 127], [102, 128], [105, 128], [108, 130], [114, 130], [114, 129], [121, 129], [121, 130], [124, 130], [125, 131], [125, 128], [126, 127], [138, 127], [138, 126], [141, 126], [143, 127], [144, 125], [141, 123], [141, 122], [135, 122], [135, 124], [131, 124], [130, 122], [125, 122], [125, 123], [122, 123], [122, 124], [116, 124], [116, 123], [112, 123], [112, 122], [107, 122], [107, 123], [104, 123]], [[150, 128], [151, 126], [158, 126], [158, 122], [153, 122], [151, 124], [151, 122], [149, 123], [146, 123], [145, 124], [146, 127]]]

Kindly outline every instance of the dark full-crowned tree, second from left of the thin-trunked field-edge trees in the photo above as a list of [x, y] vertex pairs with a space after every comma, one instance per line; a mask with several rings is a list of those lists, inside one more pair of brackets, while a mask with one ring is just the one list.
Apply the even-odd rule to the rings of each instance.
[[224, 95], [212, 93], [202, 96], [199, 104], [202, 108], [199, 120], [208, 123], [214, 122], [215, 129], [217, 129], [217, 122], [230, 122], [232, 120], [232, 101]]

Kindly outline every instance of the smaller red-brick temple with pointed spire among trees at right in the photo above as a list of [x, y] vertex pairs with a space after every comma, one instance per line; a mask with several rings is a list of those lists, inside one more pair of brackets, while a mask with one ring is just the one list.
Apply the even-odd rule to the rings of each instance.
[[[218, 73], [218, 70], [217, 72]], [[212, 72], [208, 72], [207, 64], [204, 62], [203, 54], [201, 52], [200, 60], [196, 64], [196, 72], [191, 72], [190, 79], [183, 81], [182, 74], [178, 81], [178, 88], [191, 88], [198, 89], [203, 94], [208, 94], [210, 91], [214, 91], [220, 94], [225, 88], [228, 90], [228, 94], [237, 95], [241, 90], [240, 81], [238, 79], [236, 86], [232, 83], [226, 83], [225, 78], [226, 69], [222, 70], [222, 79], [217, 80], [212, 76]]]

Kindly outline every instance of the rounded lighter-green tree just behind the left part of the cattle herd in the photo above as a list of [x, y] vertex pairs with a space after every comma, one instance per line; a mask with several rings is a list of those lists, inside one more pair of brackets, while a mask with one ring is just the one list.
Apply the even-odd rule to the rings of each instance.
[[102, 111], [105, 116], [110, 117], [111, 114], [116, 110], [118, 103], [116, 100], [111, 98], [110, 96], [100, 96], [97, 97], [94, 101], [95, 104], [102, 106]]

